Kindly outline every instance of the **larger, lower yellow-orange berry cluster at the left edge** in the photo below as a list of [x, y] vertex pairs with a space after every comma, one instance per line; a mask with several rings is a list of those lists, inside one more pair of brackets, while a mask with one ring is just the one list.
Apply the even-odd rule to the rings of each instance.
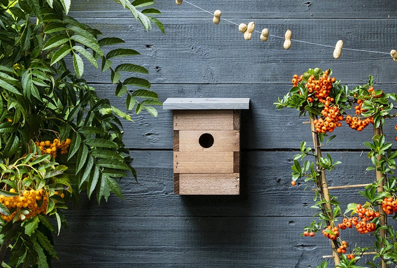
[[[11, 193], [15, 193], [15, 189], [11, 188], [9, 190]], [[37, 204], [36, 201], [43, 200], [41, 206]], [[39, 190], [23, 190], [17, 196], [6, 197], [4, 195], [0, 195], [0, 202], [10, 211], [14, 210], [9, 216], [1, 214], [1, 218], [7, 222], [12, 221], [20, 210], [28, 210], [29, 213], [25, 214], [25, 219], [30, 217], [34, 217], [37, 214], [42, 212], [46, 213], [47, 205], [48, 205], [48, 197], [47, 193], [44, 189]], [[18, 220], [21, 219], [19, 215]]]

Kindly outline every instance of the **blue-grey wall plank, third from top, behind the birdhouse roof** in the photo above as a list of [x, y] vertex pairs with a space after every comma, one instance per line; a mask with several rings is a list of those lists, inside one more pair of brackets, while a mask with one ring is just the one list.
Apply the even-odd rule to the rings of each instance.
[[[362, 80], [361, 84], [366, 82]], [[125, 111], [125, 97], [117, 98], [107, 85], [95, 85], [102, 97], [109, 98], [111, 103]], [[348, 84], [349, 88], [354, 85]], [[265, 89], [267, 88], [267, 89]], [[299, 112], [290, 108], [277, 110], [273, 102], [282, 97], [291, 88], [290, 84], [249, 84], [249, 85], [153, 85], [161, 100], [177, 96], [208, 96], [208, 97], [243, 97], [249, 92], [251, 99], [250, 110], [241, 110], [241, 144], [242, 150], [251, 149], [298, 149], [302, 140], [312, 144], [310, 127], [307, 117], [298, 118]], [[392, 93], [396, 85], [376, 84], [375, 88]], [[153, 118], [146, 112], [138, 116], [131, 114], [135, 123], [124, 123], [124, 142], [130, 148], [139, 149], [171, 149], [173, 148], [173, 112], [158, 107], [158, 117]], [[349, 111], [354, 114], [354, 110]], [[397, 118], [387, 119], [384, 133], [388, 142], [396, 144], [397, 132], [395, 125]], [[351, 130], [342, 122], [342, 127], [336, 128], [332, 135], [336, 135], [324, 148], [332, 149], [367, 149], [364, 141], [370, 141], [373, 135], [372, 126], [362, 132]]]

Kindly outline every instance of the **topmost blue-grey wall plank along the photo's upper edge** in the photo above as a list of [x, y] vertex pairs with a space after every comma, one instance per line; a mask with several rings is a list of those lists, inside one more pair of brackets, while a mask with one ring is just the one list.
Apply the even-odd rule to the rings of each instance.
[[[267, 0], [266, 4], [261, 0], [254, 0], [246, 5], [228, 0], [192, 0], [190, 2], [209, 12], [220, 9], [224, 18], [396, 18], [393, 4], [382, 0], [334, 0], [332, 2], [327, 0], [306, 2]], [[162, 12], [161, 17], [207, 18], [210, 16], [186, 2], [176, 5], [175, 1], [157, 0], [153, 6]], [[90, 12], [86, 10], [90, 10]], [[130, 11], [123, 9], [114, 1], [102, 1], [101, 4], [97, 4], [96, 0], [73, 1], [70, 14], [77, 17], [118, 17], [123, 19], [132, 16]]]

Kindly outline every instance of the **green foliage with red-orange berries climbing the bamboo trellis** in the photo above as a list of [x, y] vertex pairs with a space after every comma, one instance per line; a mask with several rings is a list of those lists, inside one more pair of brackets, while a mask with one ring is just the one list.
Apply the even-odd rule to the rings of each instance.
[[[360, 268], [356, 263], [364, 253], [373, 254], [373, 262], [366, 264], [368, 267], [384, 268], [391, 264], [396, 266], [397, 236], [393, 225], [387, 224], [387, 215], [397, 212], [397, 177], [394, 175], [397, 151], [392, 149], [392, 143], [385, 141], [382, 130], [386, 119], [392, 116], [390, 113], [396, 94], [386, 94], [374, 89], [372, 76], [367, 84], [358, 85], [351, 90], [331, 78], [331, 85], [325, 83], [326, 87], [318, 90], [317, 85], [321, 85], [321, 78], [329, 79], [328, 75], [331, 73], [331, 69], [322, 71], [316, 68], [309, 69], [301, 76], [294, 75], [294, 86], [290, 92], [274, 103], [278, 109], [289, 107], [300, 111], [299, 116], [308, 114], [311, 121], [314, 148], [307, 147], [306, 142], [302, 142], [300, 153], [294, 156], [294, 165], [291, 167], [292, 185], [295, 185], [296, 180], [304, 179], [307, 183], [314, 183], [316, 187], [315, 203], [311, 206], [316, 210], [316, 220], [305, 227], [303, 235], [308, 236], [310, 232], [314, 235], [314, 232], [322, 231], [331, 241], [335, 267]], [[353, 107], [355, 115], [346, 115]], [[376, 172], [374, 181], [358, 191], [358, 194], [367, 199], [366, 203], [350, 202], [344, 212], [336, 197], [328, 193], [325, 177], [325, 172], [337, 168], [340, 162], [334, 161], [328, 153], [327, 157], [321, 155], [321, 147], [334, 137], [325, 141], [327, 133], [340, 127], [339, 121], [342, 120], [356, 131], [362, 131], [370, 124], [374, 125], [372, 141], [366, 141], [364, 145], [369, 149], [368, 158], [373, 164], [366, 170]], [[333, 126], [331, 122], [337, 124]], [[314, 161], [306, 160], [308, 157]], [[349, 246], [340, 235], [342, 230], [352, 227], [360, 233], [371, 234], [375, 238], [374, 245], [366, 248]], [[344, 254], [349, 247], [350, 254]], [[328, 263], [323, 262], [319, 267], [327, 266]]]

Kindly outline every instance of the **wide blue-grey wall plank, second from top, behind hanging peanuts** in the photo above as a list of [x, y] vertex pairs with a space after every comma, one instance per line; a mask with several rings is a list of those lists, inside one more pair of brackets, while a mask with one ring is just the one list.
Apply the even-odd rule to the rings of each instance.
[[[397, 83], [394, 75], [397, 63], [389, 54], [396, 49], [396, 19], [255, 19], [258, 32], [254, 32], [250, 41], [244, 40], [234, 24], [216, 26], [203, 19], [164, 19], [166, 35], [156, 29], [146, 33], [142, 27], [134, 26], [132, 20], [126, 19], [81, 18], [80, 21], [99, 28], [104, 36], [117, 35], [125, 39], [126, 44], [122, 46], [136, 49], [141, 56], [114, 59], [114, 64], [132, 62], [143, 65], [149, 74], [142, 76], [152, 83], [285, 83], [290, 81], [292, 74], [310, 67], [330, 67], [344, 83], [361, 82], [368, 78], [368, 74], [373, 74], [379, 83]], [[236, 23], [249, 21], [244, 19]], [[267, 42], [261, 41], [263, 28], [282, 38], [270, 36]], [[287, 29], [292, 31], [294, 40], [331, 47], [293, 40], [291, 48], [285, 50], [283, 42]], [[386, 54], [342, 50], [342, 56], [335, 60], [332, 53], [339, 39], [343, 40], [344, 48]], [[110, 49], [106, 47], [105, 53]], [[110, 81], [109, 70], [102, 73], [86, 63], [84, 77], [88, 81]], [[121, 78], [128, 75], [123, 73]]]

